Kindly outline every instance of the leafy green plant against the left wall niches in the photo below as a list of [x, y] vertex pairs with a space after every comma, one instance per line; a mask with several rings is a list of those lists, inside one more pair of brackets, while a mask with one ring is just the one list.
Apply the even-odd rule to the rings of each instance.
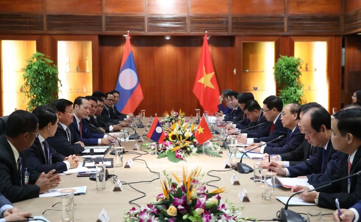
[[23, 92], [28, 99], [27, 106], [31, 112], [39, 105], [46, 105], [58, 99], [58, 69], [53, 61], [43, 53], [34, 53], [24, 68]]

